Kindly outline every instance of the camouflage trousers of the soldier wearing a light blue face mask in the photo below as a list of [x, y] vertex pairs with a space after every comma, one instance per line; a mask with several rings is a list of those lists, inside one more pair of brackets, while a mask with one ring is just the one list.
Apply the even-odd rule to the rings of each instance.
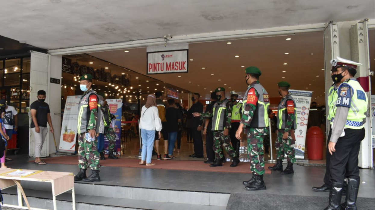
[[98, 138], [89, 142], [86, 133], [78, 134], [78, 166], [80, 169], [99, 170]]

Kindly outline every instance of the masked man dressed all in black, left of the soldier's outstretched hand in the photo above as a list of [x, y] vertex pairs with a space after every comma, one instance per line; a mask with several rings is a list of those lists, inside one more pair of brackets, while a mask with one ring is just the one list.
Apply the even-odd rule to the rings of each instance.
[[[199, 93], [193, 93], [193, 97], [191, 100], [193, 101], [193, 105], [189, 109], [189, 115], [192, 115], [194, 112], [203, 112], [203, 104], [199, 102], [199, 98], [201, 95]], [[193, 136], [193, 145], [194, 145], [194, 154], [189, 155], [189, 157], [193, 158], [203, 158], [203, 140], [202, 140], [202, 120], [200, 117], [193, 117], [192, 118], [192, 136]]]

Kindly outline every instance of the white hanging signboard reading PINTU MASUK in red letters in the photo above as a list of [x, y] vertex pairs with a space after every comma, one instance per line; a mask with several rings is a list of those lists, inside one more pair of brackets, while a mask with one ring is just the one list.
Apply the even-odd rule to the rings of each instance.
[[147, 74], [187, 72], [188, 50], [172, 50], [147, 53]]

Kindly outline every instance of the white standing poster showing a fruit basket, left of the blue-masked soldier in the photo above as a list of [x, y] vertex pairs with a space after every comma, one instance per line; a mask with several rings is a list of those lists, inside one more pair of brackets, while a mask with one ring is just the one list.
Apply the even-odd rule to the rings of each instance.
[[66, 98], [63, 123], [60, 135], [60, 145], [58, 151], [71, 152], [75, 151], [75, 139], [77, 136], [78, 123], [78, 103], [81, 96], [68, 96]]

